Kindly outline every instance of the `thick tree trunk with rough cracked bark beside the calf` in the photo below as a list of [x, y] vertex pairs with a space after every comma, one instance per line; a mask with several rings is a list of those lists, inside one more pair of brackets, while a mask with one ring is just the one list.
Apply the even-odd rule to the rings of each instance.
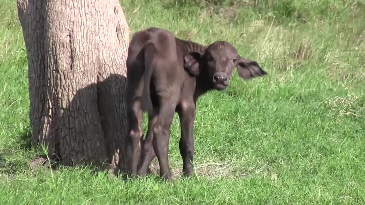
[[124, 168], [129, 28], [118, 0], [17, 4], [33, 146], [46, 144], [65, 166]]

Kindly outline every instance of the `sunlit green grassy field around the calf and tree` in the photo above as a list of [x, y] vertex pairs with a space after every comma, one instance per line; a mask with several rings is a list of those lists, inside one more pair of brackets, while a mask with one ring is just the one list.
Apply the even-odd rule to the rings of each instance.
[[[15, 1], [3, 0], [1, 204], [365, 204], [364, 0], [133, 2], [121, 1], [131, 34], [154, 26], [200, 43], [227, 40], [269, 75], [244, 82], [235, 73], [230, 88], [199, 100], [189, 180], [32, 169], [26, 51]], [[176, 175], [179, 138], [176, 115]]]

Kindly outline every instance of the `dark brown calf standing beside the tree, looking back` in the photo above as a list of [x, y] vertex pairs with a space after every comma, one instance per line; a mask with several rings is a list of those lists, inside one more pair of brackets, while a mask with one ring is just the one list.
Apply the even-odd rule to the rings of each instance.
[[[243, 79], [266, 74], [257, 62], [242, 58], [225, 41], [202, 46], [175, 38], [172, 32], [160, 28], [148, 28], [133, 35], [127, 57], [129, 174], [149, 173], [148, 166], [156, 155], [160, 177], [172, 181], [168, 145], [174, 112], [180, 117], [183, 175], [193, 173], [196, 100], [209, 90], [224, 90], [235, 67]], [[144, 141], [143, 111], [149, 113]]]

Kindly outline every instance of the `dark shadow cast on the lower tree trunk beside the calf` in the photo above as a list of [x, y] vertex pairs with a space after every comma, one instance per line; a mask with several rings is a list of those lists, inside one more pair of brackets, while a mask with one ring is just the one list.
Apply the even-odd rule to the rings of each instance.
[[[61, 105], [54, 106], [60, 110], [52, 109], [52, 112], [61, 115], [55, 115], [48, 126], [42, 127], [49, 128], [46, 135], [53, 135], [44, 139], [52, 139], [46, 143], [51, 148], [48, 155], [55, 169], [59, 165], [88, 165], [91, 169], [109, 169], [115, 174], [125, 170], [126, 84], [126, 77], [110, 74], [104, 80], [79, 89], [65, 109]], [[29, 137], [23, 134], [20, 138], [26, 144]], [[38, 149], [42, 150], [40, 144]], [[31, 166], [46, 165], [45, 161], [48, 161], [46, 155], [37, 156]]]

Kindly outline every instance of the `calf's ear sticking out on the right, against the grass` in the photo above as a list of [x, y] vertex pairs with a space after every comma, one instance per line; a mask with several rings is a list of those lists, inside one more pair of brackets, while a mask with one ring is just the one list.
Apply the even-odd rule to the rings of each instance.
[[268, 74], [265, 70], [262, 70], [256, 61], [250, 61], [239, 57], [236, 62], [238, 75], [242, 79], [247, 80], [250, 78], [263, 77]]

